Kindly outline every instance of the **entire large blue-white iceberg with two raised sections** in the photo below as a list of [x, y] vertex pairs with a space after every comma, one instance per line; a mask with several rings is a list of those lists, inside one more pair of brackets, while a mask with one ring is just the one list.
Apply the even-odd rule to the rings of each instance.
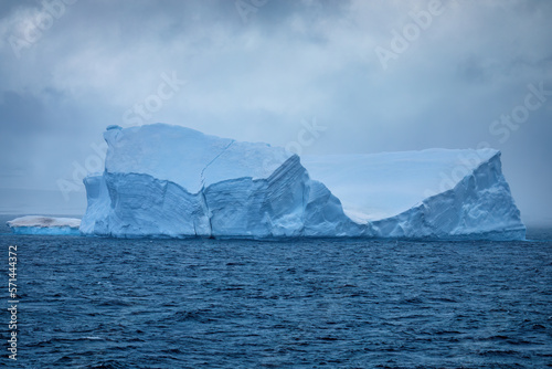
[[524, 239], [490, 149], [299, 158], [164, 124], [104, 137], [83, 234]]

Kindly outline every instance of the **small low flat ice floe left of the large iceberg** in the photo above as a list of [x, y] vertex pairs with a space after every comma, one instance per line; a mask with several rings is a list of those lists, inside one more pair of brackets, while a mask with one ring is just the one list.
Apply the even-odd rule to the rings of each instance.
[[51, 218], [26, 215], [8, 222], [15, 234], [81, 235], [81, 220], [76, 218]]

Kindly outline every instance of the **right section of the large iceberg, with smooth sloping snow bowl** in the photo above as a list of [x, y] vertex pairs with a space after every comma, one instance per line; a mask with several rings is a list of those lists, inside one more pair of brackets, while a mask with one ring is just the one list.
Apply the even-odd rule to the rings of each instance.
[[524, 240], [500, 151], [427, 149], [304, 157], [344, 213], [376, 238]]

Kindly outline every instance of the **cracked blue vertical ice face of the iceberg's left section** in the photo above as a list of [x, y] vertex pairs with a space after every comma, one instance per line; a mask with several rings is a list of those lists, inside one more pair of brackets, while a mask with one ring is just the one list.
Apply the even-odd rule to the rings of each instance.
[[146, 173], [105, 172], [86, 178], [85, 186], [85, 234], [266, 239], [360, 232], [297, 156], [267, 178], [225, 179], [198, 193]]

